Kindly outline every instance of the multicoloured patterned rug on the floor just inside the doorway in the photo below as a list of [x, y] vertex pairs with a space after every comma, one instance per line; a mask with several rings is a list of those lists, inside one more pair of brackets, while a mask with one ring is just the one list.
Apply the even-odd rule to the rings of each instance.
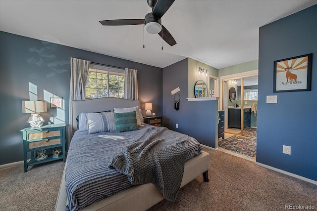
[[227, 139], [218, 141], [218, 147], [240, 153], [251, 158], [256, 158], [257, 139], [240, 135], [233, 135]]

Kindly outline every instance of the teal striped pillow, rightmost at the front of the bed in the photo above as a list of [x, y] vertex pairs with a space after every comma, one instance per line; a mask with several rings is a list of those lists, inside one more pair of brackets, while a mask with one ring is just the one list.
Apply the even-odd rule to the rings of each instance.
[[136, 111], [114, 113], [114, 119], [116, 132], [125, 132], [139, 129], [137, 125]]

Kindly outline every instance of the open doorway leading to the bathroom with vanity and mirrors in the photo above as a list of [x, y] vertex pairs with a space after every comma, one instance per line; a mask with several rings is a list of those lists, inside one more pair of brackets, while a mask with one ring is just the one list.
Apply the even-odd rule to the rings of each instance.
[[[220, 82], [219, 109], [224, 110], [225, 113], [224, 137], [227, 143], [219, 139], [219, 149], [223, 151], [224, 148], [227, 152], [228, 148], [229, 150], [232, 148], [234, 153], [243, 154], [250, 146], [251, 154], [254, 153], [254, 156], [251, 155], [251, 160], [254, 160], [257, 137], [258, 71], [220, 77]], [[243, 146], [243, 142], [246, 141], [250, 141], [250, 144], [247, 142]], [[232, 147], [233, 145], [237, 147]], [[250, 154], [247, 156], [250, 158]]]

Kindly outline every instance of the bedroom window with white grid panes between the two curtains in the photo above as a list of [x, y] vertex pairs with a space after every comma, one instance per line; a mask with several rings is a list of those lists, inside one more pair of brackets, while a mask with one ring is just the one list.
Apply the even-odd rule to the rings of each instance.
[[91, 64], [87, 77], [86, 98], [124, 98], [124, 74], [119, 68]]

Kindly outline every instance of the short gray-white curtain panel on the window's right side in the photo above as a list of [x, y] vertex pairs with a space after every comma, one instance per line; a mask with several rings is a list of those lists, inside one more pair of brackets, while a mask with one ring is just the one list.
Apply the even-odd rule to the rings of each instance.
[[137, 70], [125, 68], [124, 98], [139, 100]]

